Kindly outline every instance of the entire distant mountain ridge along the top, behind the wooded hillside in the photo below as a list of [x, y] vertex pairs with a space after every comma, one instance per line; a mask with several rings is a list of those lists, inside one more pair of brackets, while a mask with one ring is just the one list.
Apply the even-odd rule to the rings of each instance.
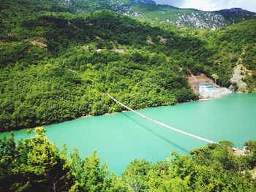
[[244, 9], [223, 9], [216, 12], [204, 12], [197, 9], [179, 9], [169, 5], [157, 5], [154, 1], [135, 0], [69, 0], [64, 4], [76, 7], [77, 11], [112, 9], [124, 15], [163, 21], [176, 26], [189, 26], [193, 28], [218, 28], [230, 26], [244, 20], [256, 18], [255, 12]]

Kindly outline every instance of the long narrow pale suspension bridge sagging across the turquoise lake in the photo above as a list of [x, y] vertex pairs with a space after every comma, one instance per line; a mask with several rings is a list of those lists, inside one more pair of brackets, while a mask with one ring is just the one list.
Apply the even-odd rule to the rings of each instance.
[[[158, 121], [158, 120], [155, 120], [155, 119], [153, 119], [153, 118], [148, 118], [146, 115], [143, 115], [142, 113], [140, 113], [140, 112], [138, 112], [138, 111], [136, 111], [136, 110], [132, 110], [132, 108], [130, 108], [130, 107], [127, 107], [125, 104], [123, 104], [123, 103], [121, 103], [120, 101], [118, 101], [117, 99], [115, 99], [115, 98], [114, 98], [113, 96], [111, 96], [109, 93], [107, 93], [107, 94], [108, 94], [108, 96], [110, 97], [110, 99], [112, 99], [112, 100], [115, 101], [116, 103], [120, 104], [122, 107], [126, 108], [127, 110], [129, 110], [129, 111], [131, 111], [131, 112], [134, 112], [135, 114], [139, 115], [139, 116], [142, 117], [142, 118], [145, 118], [146, 120], [149, 120], [149, 121], [151, 121], [151, 122], [153, 122], [153, 123], [156, 123], [156, 124], [159, 125], [159, 126], [163, 126], [163, 127], [165, 127], [165, 128], [169, 128], [169, 129], [172, 130], [172, 131], [176, 131], [176, 132], [178, 132], [178, 133], [180, 133], [180, 134], [187, 135], [188, 137], [192, 137], [192, 138], [194, 138], [194, 139], [198, 139], [198, 140], [200, 140], [200, 141], [203, 141], [203, 142], [206, 142], [206, 143], [209, 143], [209, 144], [218, 144], [218, 145], [220, 145], [219, 142], [214, 142], [214, 141], [212, 141], [212, 140], [210, 140], [210, 139], [206, 139], [206, 138], [203, 138], [203, 137], [199, 137], [199, 136], [197, 136], [197, 135], [195, 135], [195, 134], [190, 134], [190, 133], [188, 133], [187, 131], [181, 131], [181, 130], [178, 129], [178, 128], [174, 128], [173, 126], [169, 126], [169, 125], [167, 125], [167, 124], [165, 124], [165, 123], [162, 123], [162, 122], [160, 122], [160, 121]], [[233, 149], [236, 153], [241, 153], [241, 154], [243, 153], [243, 150], [240, 150], [240, 149], [238, 149], [238, 148], [232, 147], [232, 149]]]

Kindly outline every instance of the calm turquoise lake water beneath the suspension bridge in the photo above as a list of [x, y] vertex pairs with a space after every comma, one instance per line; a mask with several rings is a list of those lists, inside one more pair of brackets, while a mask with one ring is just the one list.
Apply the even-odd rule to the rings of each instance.
[[[242, 147], [256, 139], [256, 93], [230, 94], [211, 101], [193, 101], [170, 107], [140, 110], [150, 118], [214, 141], [229, 140]], [[46, 136], [58, 147], [77, 147], [81, 157], [97, 150], [110, 171], [120, 174], [135, 158], [156, 162], [171, 151], [184, 154], [205, 142], [158, 126], [132, 112], [80, 118], [45, 126]], [[10, 133], [0, 134], [0, 138]], [[15, 131], [15, 139], [28, 138], [26, 130]]]

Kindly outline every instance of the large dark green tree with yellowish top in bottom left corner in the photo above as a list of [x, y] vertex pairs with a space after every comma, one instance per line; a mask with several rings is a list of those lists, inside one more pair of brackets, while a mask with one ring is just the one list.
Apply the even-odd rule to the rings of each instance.
[[13, 135], [1, 140], [2, 191], [65, 191], [72, 184], [59, 150], [36, 128], [31, 139], [15, 145]]

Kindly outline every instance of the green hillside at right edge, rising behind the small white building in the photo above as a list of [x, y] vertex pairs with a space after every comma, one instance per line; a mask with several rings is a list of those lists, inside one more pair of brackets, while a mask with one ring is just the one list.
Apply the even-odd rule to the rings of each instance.
[[[208, 66], [214, 69], [219, 76], [219, 82], [222, 85], [230, 86], [231, 77], [236, 69], [242, 68], [239, 80], [247, 83], [243, 86], [233, 85], [234, 88], [241, 87], [238, 91], [253, 91], [256, 80], [256, 20], [248, 20], [236, 25], [219, 28], [217, 31], [202, 31], [197, 36], [207, 42], [207, 47], [215, 50], [214, 54], [208, 58]], [[249, 72], [250, 70], [250, 72]]]

